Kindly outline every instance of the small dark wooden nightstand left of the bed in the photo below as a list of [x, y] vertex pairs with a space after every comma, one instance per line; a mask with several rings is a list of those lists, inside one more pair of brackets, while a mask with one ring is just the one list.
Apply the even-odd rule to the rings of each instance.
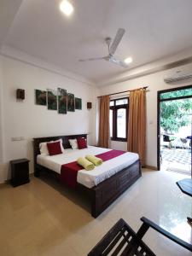
[[13, 187], [29, 183], [29, 161], [27, 159], [11, 160], [11, 184]]

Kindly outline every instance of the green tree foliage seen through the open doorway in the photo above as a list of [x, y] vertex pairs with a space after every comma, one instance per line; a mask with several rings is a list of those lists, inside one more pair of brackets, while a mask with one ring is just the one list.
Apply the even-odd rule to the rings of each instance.
[[[192, 94], [192, 89], [168, 92], [165, 97], [172, 98]], [[177, 132], [180, 127], [187, 126], [191, 122], [192, 98], [160, 102], [160, 127], [166, 132]]]

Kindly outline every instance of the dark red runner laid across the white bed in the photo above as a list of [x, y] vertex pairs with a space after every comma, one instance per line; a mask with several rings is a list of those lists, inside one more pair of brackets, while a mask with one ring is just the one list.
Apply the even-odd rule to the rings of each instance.
[[[111, 160], [121, 154], [125, 154], [125, 151], [110, 150], [110, 151], [102, 153], [102, 154], [96, 154], [96, 157], [101, 158], [103, 161], [107, 161], [107, 160]], [[61, 182], [71, 188], [74, 188], [77, 185], [78, 172], [83, 169], [84, 169], [84, 167], [79, 166], [77, 161], [62, 165], [61, 166]]]

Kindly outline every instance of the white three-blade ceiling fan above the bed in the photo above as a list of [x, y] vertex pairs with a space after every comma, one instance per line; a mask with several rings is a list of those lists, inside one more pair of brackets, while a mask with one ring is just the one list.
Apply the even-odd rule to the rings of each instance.
[[119, 65], [120, 67], [127, 67], [124, 61], [120, 61], [114, 57], [114, 53], [116, 49], [118, 48], [118, 45], [123, 38], [125, 34], [124, 28], [119, 28], [118, 32], [116, 33], [115, 38], [113, 39], [113, 43], [111, 44], [112, 39], [111, 38], [105, 38], [105, 42], [108, 45], [108, 55], [104, 57], [98, 57], [98, 58], [89, 58], [89, 59], [79, 59], [79, 61], [110, 61], [116, 65]]

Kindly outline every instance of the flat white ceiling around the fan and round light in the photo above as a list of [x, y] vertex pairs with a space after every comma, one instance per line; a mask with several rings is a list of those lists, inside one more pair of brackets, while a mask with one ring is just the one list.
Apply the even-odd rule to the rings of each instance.
[[19, 0], [1, 0], [0, 16], [6, 3], [12, 15], [18, 7], [6, 37], [9, 22], [0, 22], [3, 44], [96, 82], [125, 69], [107, 61], [78, 60], [108, 54], [104, 38], [113, 38], [119, 27], [126, 33], [115, 55], [132, 56], [130, 68], [192, 46], [191, 0], [71, 0], [70, 18], [61, 14], [60, 2], [23, 0], [19, 8]]

